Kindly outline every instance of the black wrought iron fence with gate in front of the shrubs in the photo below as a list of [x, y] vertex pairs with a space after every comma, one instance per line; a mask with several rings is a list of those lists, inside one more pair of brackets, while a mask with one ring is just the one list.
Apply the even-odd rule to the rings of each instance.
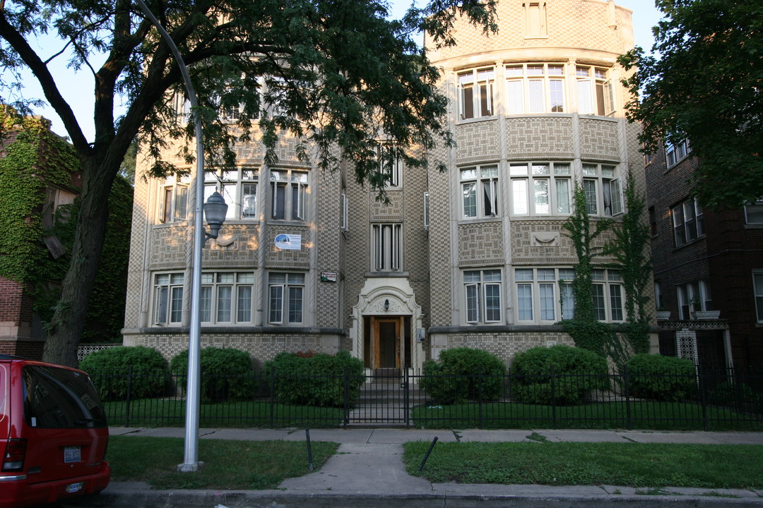
[[[109, 423], [185, 423], [185, 375], [92, 375]], [[201, 427], [763, 430], [763, 375], [203, 375]], [[465, 389], [468, 387], [468, 389]]]

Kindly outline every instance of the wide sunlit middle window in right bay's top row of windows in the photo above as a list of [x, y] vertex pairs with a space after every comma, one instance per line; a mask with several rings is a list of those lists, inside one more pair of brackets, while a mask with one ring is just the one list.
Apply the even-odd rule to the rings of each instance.
[[552, 63], [507, 65], [505, 72], [508, 114], [566, 111], [564, 65]]

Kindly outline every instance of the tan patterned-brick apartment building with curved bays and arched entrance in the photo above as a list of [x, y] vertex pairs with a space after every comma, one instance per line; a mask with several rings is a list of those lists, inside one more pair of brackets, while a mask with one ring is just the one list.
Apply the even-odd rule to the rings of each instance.
[[[497, 15], [498, 34], [459, 23], [458, 46], [431, 53], [458, 145], [427, 154], [443, 173], [385, 165], [389, 204], [356, 184], [348, 163], [327, 174], [298, 161], [289, 139], [277, 166], [255, 135], [237, 171], [208, 176], [207, 193], [221, 189], [230, 208], [204, 249], [202, 346], [259, 361], [349, 350], [369, 369], [417, 370], [451, 347], [509, 362], [571, 343], [555, 322], [573, 307], [559, 281], [577, 261], [562, 232], [575, 184], [591, 216], [616, 222], [629, 171], [644, 190], [617, 65], [633, 47], [631, 12], [502, 0]], [[138, 161], [124, 343], [170, 357], [188, 342], [193, 187], [144, 180]], [[594, 278], [600, 319], [624, 321], [620, 273]]]

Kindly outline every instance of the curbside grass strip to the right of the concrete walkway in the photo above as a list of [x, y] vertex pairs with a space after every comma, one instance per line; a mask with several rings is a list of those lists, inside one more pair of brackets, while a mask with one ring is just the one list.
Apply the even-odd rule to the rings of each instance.
[[763, 487], [761, 445], [655, 443], [430, 443], [404, 445], [409, 474], [435, 483]]

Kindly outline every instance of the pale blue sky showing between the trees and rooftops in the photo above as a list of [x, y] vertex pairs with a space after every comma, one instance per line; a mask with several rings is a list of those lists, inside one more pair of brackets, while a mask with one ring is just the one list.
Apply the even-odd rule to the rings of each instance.
[[[498, 1], [500, 2], [501, 0]], [[661, 13], [655, 8], [654, 3], [651, 0], [615, 0], [615, 2], [617, 5], [633, 11], [633, 35], [636, 40], [636, 46], [641, 46], [647, 51], [651, 49], [652, 27], [661, 18]], [[410, 0], [390, 0], [390, 3], [393, 16], [400, 17], [408, 5], [410, 5]], [[32, 46], [40, 50], [38, 54], [44, 59], [60, 50], [63, 44], [58, 40], [51, 40], [49, 38], [37, 41], [37, 44], [33, 43]], [[63, 97], [69, 102], [72, 110], [76, 113], [85, 137], [92, 141], [94, 138], [92, 122], [94, 101], [92, 74], [90, 72], [73, 72], [72, 69], [67, 69], [66, 61], [61, 57], [53, 60], [50, 64], [50, 72], [56, 78], [56, 81], [59, 82]], [[24, 97], [43, 98], [42, 91], [40, 91], [37, 81], [31, 74], [27, 73], [24, 83], [26, 85]], [[8, 100], [8, 97], [3, 98]], [[120, 104], [118, 100], [115, 105], [119, 110]], [[63, 128], [63, 123], [50, 107], [36, 108], [35, 113], [41, 114], [53, 122], [53, 132], [66, 136], [66, 129]]]

